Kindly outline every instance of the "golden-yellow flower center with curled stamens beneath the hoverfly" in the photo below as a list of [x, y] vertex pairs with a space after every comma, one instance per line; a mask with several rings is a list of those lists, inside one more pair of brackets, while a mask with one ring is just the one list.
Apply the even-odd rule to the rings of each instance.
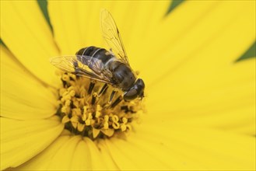
[[65, 129], [91, 139], [110, 138], [132, 129], [141, 100], [125, 102], [123, 92], [77, 75], [61, 75], [57, 115]]

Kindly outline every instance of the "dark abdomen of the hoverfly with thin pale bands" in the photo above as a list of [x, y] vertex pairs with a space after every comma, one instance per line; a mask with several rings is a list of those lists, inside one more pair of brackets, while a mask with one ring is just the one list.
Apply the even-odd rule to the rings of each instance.
[[102, 61], [103, 65], [108, 64], [114, 56], [110, 54], [106, 49], [100, 48], [100, 47], [85, 47], [80, 49], [78, 52], [76, 52], [76, 55], [86, 55], [92, 58], [99, 59]]

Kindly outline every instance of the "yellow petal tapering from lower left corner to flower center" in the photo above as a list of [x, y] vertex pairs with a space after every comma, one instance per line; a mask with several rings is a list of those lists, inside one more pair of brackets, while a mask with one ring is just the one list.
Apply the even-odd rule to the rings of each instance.
[[12, 120], [1, 117], [1, 169], [16, 167], [39, 154], [61, 134], [58, 117]]

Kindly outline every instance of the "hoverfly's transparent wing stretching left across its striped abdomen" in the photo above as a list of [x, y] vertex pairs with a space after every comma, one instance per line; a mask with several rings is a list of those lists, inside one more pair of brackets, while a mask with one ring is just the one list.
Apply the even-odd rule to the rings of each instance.
[[61, 56], [51, 58], [51, 64], [63, 72], [113, 85], [112, 73], [104, 68], [103, 63], [96, 58], [85, 55]]

